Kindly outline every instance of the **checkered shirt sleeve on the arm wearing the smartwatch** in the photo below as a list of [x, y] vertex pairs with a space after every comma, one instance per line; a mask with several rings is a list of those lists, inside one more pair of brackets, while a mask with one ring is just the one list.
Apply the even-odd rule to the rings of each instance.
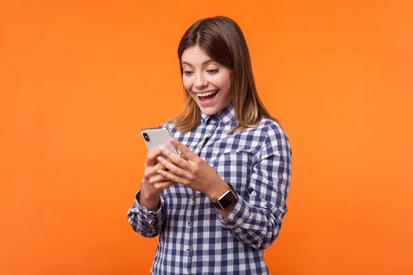
[[257, 250], [268, 248], [277, 238], [287, 212], [290, 186], [291, 148], [279, 124], [271, 126], [248, 184], [248, 197], [238, 200], [222, 226]]

